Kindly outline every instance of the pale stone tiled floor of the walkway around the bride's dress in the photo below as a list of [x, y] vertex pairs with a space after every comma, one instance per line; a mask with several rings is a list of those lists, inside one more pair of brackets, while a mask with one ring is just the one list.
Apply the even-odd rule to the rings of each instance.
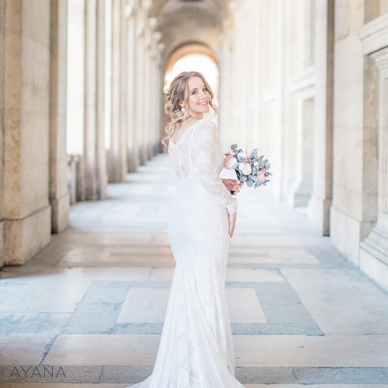
[[[387, 293], [270, 185], [243, 188], [231, 240], [238, 380], [388, 387]], [[169, 158], [158, 155], [110, 186], [108, 200], [73, 206], [71, 226], [34, 259], [2, 268], [0, 388], [122, 388], [151, 373], [174, 267], [173, 191]]]

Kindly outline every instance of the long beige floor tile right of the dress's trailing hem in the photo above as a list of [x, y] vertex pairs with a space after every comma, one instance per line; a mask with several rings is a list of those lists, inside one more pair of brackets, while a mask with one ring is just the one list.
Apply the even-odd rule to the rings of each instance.
[[236, 366], [387, 366], [388, 336], [237, 335]]

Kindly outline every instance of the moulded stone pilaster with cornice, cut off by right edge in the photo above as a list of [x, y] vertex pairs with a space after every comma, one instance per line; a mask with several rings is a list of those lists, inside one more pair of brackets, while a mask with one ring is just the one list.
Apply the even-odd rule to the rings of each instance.
[[365, 175], [368, 175], [365, 178], [365, 207], [366, 211], [369, 211], [366, 216], [377, 221], [370, 234], [360, 244], [360, 268], [388, 291], [387, 34], [388, 14], [385, 13], [366, 23], [358, 35], [366, 55], [365, 89], [368, 95], [365, 98], [364, 110], [370, 124], [365, 128], [365, 141], [369, 150], [364, 160]]

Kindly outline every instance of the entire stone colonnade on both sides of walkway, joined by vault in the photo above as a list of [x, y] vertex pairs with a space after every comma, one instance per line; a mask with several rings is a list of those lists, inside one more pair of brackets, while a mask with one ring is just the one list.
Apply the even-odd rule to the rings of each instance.
[[0, 1], [0, 266], [160, 151], [163, 64], [203, 45], [219, 66], [221, 149], [258, 147], [275, 196], [388, 289], [387, 1], [221, 3], [216, 28], [181, 39], [191, 13], [174, 17], [216, 2]]

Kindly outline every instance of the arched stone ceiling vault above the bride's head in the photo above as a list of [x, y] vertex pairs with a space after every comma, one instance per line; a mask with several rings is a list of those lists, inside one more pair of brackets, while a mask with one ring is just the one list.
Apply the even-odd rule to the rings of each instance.
[[153, 0], [149, 14], [157, 19], [156, 28], [162, 33], [164, 61], [187, 43], [202, 43], [217, 52], [229, 1]]

